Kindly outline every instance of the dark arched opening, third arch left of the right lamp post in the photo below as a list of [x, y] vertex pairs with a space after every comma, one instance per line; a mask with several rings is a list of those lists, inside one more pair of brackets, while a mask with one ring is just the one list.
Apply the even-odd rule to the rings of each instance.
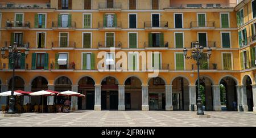
[[125, 81], [125, 109], [142, 110], [142, 82], [138, 77], [129, 77]]

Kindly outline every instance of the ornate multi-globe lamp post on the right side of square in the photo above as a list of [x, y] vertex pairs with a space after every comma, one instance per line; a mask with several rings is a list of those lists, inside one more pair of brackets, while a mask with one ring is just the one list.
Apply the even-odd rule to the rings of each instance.
[[184, 48], [183, 53], [185, 59], [194, 59], [197, 64], [197, 115], [204, 115], [202, 98], [200, 93], [200, 61], [202, 59], [209, 59], [210, 55], [212, 55], [212, 49], [208, 48], [208, 54], [204, 55], [204, 47], [200, 46], [200, 43], [197, 41], [195, 44], [195, 48], [192, 49], [192, 55], [188, 56], [188, 50]]

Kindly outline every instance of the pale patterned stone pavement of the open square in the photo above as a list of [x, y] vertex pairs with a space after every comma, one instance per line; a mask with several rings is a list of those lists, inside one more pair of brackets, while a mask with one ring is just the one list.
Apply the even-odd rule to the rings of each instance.
[[1, 114], [0, 127], [256, 127], [256, 114], [253, 113], [205, 113], [211, 115], [211, 118], [196, 118], [196, 112], [191, 111], [76, 111], [69, 114], [26, 113], [16, 118], [3, 118]]

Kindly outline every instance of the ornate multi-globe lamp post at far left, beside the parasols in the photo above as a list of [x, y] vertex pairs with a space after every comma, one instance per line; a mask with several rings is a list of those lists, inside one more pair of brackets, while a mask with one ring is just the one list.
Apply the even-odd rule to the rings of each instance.
[[[18, 60], [18, 59], [20, 59], [20, 58], [24, 58], [24, 57], [22, 57], [22, 52], [21, 51], [19, 51], [18, 49], [17, 49], [17, 47], [18, 47], [18, 44], [16, 43], [16, 42], [14, 42], [14, 44], [13, 44], [13, 46], [9, 46], [8, 47], [8, 52], [9, 52], [9, 55], [7, 55], [7, 57], [5, 57], [5, 52], [6, 52], [6, 48], [2, 48], [1, 49], [1, 55], [2, 55], [2, 58], [3, 59], [6, 59], [6, 58], [8, 58], [8, 59], [12, 59], [11, 61], [12, 61], [12, 63], [11, 64], [13, 64], [13, 81], [12, 81], [12, 85], [11, 85], [11, 96], [10, 96], [10, 100], [9, 100], [9, 110], [7, 111], [7, 113], [8, 114], [15, 114], [15, 110], [14, 110], [14, 106], [15, 106], [15, 98], [14, 98], [14, 80], [15, 80], [15, 63], [16, 63], [16, 61]], [[25, 49], [25, 55], [26, 55], [26, 58], [27, 58], [27, 55], [29, 54], [29, 49], [28, 48], [26, 48]]]

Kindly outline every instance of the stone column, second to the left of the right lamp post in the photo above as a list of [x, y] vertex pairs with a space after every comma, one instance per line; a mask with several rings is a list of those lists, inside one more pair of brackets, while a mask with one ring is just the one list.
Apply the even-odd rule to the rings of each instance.
[[166, 111], [174, 110], [172, 106], [172, 85], [166, 85]]

